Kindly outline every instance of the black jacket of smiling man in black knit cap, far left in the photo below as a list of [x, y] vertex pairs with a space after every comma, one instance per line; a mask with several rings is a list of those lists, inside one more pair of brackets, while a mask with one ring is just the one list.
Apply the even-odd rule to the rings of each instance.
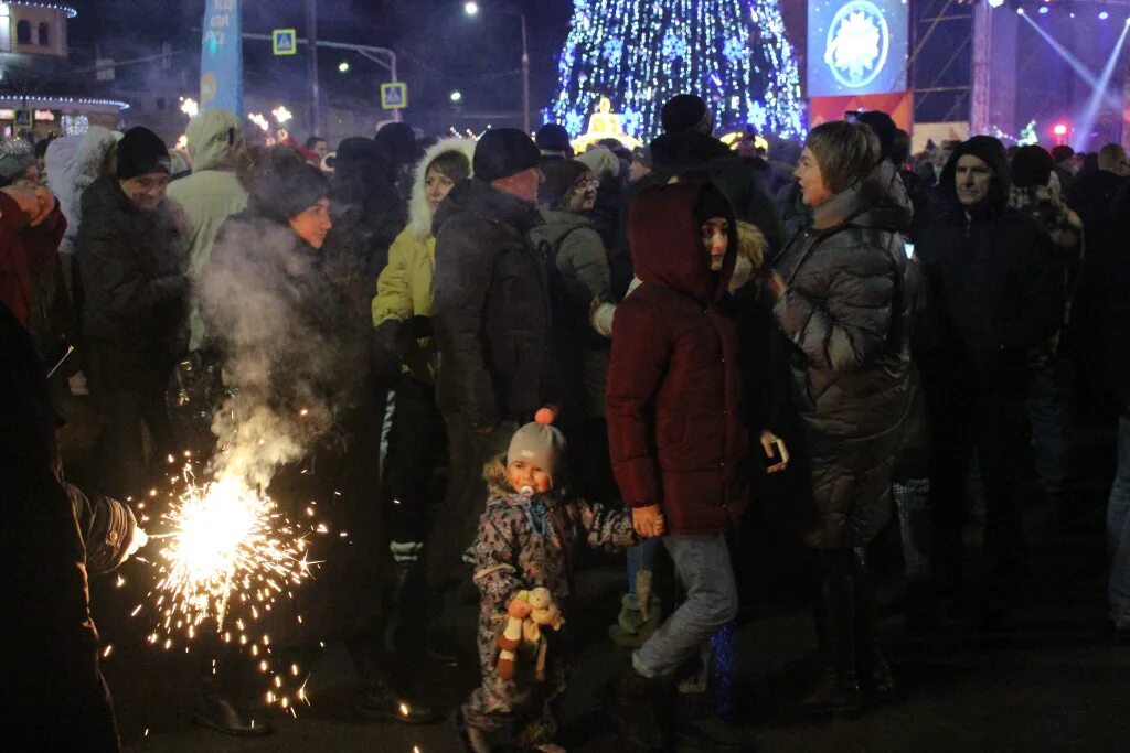
[[138, 209], [118, 180], [82, 192], [78, 264], [87, 336], [173, 344], [185, 316], [188, 247], [169, 202]]

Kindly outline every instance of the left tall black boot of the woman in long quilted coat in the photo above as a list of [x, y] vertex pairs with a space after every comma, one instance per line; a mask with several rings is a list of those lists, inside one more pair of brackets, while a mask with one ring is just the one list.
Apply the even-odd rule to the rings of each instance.
[[855, 587], [850, 575], [820, 581], [817, 625], [824, 672], [801, 701], [809, 713], [853, 715], [863, 708], [855, 665]]

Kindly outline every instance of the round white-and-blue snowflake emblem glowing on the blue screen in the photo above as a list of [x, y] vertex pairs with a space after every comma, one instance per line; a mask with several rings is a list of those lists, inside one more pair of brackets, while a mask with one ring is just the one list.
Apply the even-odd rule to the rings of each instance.
[[869, 0], [853, 0], [840, 8], [828, 25], [824, 62], [840, 84], [855, 89], [879, 75], [889, 46], [883, 11]]

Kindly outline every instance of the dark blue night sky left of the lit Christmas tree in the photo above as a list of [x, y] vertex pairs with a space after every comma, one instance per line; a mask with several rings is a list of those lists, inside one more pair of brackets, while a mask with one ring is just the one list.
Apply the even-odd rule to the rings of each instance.
[[[160, 51], [162, 42], [185, 51], [177, 68], [199, 64], [203, 0], [71, 0], [78, 18], [71, 21], [72, 58], [93, 59], [95, 44], [103, 56], [128, 60]], [[524, 7], [530, 28], [531, 108], [548, 104], [555, 91], [557, 54], [567, 33], [571, 0], [479, 0], [476, 18], [463, 14], [462, 0], [318, 0], [319, 36], [334, 42], [390, 46], [399, 55], [400, 78], [410, 87], [416, 111], [451, 111], [449, 94], [463, 94], [467, 113], [516, 112], [521, 106], [521, 37], [518, 16], [506, 8]], [[244, 32], [268, 34], [295, 27], [305, 36], [303, 0], [245, 0]], [[275, 59], [269, 43], [245, 42], [245, 89], [279, 93], [301, 105], [306, 82], [305, 56]], [[383, 71], [356, 53], [320, 51], [323, 104], [338, 97], [375, 97]], [[338, 72], [347, 61], [350, 72]], [[154, 80], [146, 68], [148, 86]], [[175, 84], [168, 86], [175, 87]], [[171, 91], [174, 95], [194, 94]], [[409, 113], [409, 119], [411, 114]]]

